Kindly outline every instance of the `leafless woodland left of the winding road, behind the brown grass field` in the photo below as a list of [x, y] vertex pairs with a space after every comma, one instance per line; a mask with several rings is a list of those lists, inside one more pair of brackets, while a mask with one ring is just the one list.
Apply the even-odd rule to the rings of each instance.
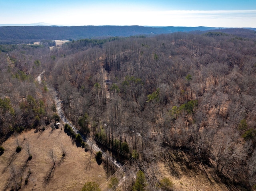
[[53, 97], [45, 83], [35, 82], [35, 77], [51, 62], [50, 50], [34, 45], [6, 45], [8, 53], [0, 52], [0, 138], [5, 140], [13, 132], [40, 128], [50, 124]]

